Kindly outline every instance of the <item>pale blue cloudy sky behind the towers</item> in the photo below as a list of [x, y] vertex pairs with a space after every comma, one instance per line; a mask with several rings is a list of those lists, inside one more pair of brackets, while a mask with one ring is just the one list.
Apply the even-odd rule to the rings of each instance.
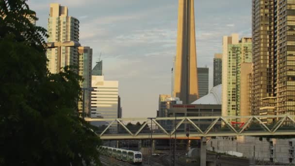
[[[80, 43], [99, 54], [105, 80], [119, 81], [123, 117], [155, 117], [160, 94], [171, 94], [178, 0], [28, 0], [47, 29], [49, 4], [67, 6], [80, 20]], [[251, 0], [195, 0], [197, 66], [209, 67], [222, 36], [251, 36]]]

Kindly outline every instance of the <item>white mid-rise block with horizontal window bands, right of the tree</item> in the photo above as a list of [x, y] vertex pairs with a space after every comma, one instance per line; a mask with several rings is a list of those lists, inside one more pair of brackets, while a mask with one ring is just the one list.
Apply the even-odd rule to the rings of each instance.
[[91, 117], [118, 117], [118, 81], [105, 81], [104, 76], [92, 76]]

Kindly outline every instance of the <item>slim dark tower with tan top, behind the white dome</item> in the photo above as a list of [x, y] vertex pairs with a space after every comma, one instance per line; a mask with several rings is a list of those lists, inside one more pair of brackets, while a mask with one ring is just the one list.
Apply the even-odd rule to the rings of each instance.
[[222, 53], [215, 53], [213, 59], [213, 86], [222, 83]]

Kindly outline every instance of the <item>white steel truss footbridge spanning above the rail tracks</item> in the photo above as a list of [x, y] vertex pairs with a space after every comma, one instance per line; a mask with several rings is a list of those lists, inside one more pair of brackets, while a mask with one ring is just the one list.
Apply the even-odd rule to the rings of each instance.
[[[157, 118], [85, 118], [102, 125], [100, 139], [199, 139], [212, 136], [295, 135], [295, 116], [198, 116]], [[268, 121], [268, 122], [267, 122]], [[137, 125], [131, 125], [136, 124]], [[129, 123], [129, 124], [128, 124]], [[134, 127], [136, 126], [136, 127]]]

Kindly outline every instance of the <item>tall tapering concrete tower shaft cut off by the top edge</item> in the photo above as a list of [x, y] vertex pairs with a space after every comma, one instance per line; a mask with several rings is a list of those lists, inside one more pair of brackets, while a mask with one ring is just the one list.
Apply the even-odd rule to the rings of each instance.
[[179, 0], [173, 97], [185, 104], [198, 98], [194, 0]]

